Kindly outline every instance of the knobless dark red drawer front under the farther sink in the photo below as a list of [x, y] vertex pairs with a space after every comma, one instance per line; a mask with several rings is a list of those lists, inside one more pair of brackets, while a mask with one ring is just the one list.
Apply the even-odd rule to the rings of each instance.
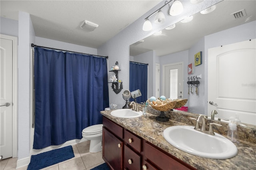
[[116, 136], [123, 138], [123, 128], [117, 125], [116, 123], [110, 121], [106, 117], [102, 118], [102, 124], [104, 127], [108, 128], [111, 132], [113, 132]]

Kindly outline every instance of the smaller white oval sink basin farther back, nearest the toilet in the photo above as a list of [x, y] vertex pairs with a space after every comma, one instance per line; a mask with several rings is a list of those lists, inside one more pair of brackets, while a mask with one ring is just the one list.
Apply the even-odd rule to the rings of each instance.
[[132, 111], [132, 109], [117, 109], [110, 112], [110, 115], [118, 118], [136, 118], [141, 117], [143, 113], [142, 111]]

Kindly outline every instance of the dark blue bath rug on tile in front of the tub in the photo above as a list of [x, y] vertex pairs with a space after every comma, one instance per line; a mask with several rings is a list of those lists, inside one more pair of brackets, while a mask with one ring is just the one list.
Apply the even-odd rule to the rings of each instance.
[[73, 157], [75, 157], [75, 155], [72, 146], [32, 155], [27, 170], [40, 170]]

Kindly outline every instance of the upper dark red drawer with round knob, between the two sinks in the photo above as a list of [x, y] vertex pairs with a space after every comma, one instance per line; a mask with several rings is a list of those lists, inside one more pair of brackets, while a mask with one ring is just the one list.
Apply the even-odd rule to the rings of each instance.
[[141, 152], [141, 138], [136, 136], [135, 134], [129, 132], [128, 130], [124, 130], [124, 141], [127, 142], [132, 148], [137, 150], [139, 153]]

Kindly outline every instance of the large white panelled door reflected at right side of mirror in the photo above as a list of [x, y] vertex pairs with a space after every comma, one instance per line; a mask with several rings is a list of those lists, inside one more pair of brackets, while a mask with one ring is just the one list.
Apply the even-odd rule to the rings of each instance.
[[208, 113], [256, 125], [255, 49], [255, 39], [208, 49]]

